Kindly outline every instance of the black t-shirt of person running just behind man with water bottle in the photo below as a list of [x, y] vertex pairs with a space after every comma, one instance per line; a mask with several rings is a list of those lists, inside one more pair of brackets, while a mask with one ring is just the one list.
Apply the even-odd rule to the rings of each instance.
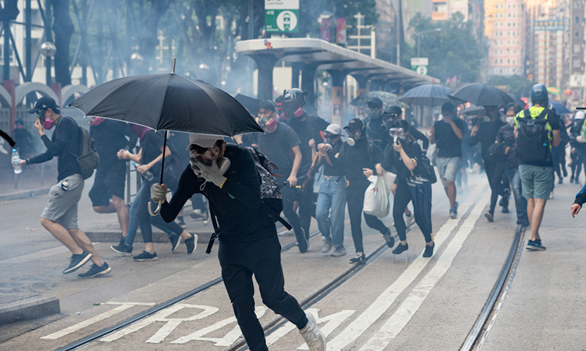
[[97, 126], [90, 126], [89, 133], [93, 138], [96, 151], [100, 154], [98, 168], [116, 172], [126, 171], [126, 160], [118, 159], [117, 152], [129, 145], [126, 135], [136, 143], [136, 135], [130, 131], [128, 124], [112, 119], [104, 119]]

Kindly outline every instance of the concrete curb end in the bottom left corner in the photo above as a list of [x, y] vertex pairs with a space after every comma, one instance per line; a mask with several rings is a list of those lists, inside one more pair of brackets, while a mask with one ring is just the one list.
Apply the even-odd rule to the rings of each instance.
[[40, 296], [23, 298], [22, 300], [0, 305], [0, 324], [46, 317], [59, 312], [58, 298], [42, 298]]

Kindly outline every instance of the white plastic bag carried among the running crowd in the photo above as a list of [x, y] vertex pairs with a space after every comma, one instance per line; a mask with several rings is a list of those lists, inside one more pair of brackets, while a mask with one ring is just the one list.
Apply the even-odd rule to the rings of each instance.
[[382, 176], [368, 177], [370, 185], [364, 193], [364, 213], [378, 218], [389, 216], [391, 210], [389, 194], [391, 194], [395, 178], [396, 175], [390, 172], [386, 172]]

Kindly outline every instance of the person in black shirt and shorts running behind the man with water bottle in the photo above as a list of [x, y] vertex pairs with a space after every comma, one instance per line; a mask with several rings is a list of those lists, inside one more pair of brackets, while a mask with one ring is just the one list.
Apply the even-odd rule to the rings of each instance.
[[[124, 185], [126, 183], [126, 162], [116, 156], [120, 149], [130, 149], [138, 138], [130, 131], [128, 124], [113, 119], [94, 117], [89, 133], [100, 155], [100, 164], [89, 191], [91, 206], [96, 213], [116, 213], [122, 238], [128, 232], [128, 207], [124, 204]], [[128, 139], [126, 139], [128, 137]]]

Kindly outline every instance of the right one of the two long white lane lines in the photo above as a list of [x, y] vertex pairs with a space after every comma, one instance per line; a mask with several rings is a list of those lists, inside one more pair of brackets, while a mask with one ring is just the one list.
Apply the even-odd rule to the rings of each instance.
[[432, 268], [429, 273], [421, 279], [419, 284], [411, 291], [409, 296], [405, 299], [405, 302], [401, 304], [401, 307], [386, 321], [386, 323], [370, 338], [363, 347], [360, 347], [360, 351], [382, 351], [386, 346], [391, 343], [393, 338], [396, 338], [398, 333], [409, 323], [411, 318], [415, 315], [423, 301], [429, 295], [431, 289], [436, 286], [441, 277], [445, 272], [448, 272], [448, 268], [452, 265], [454, 258], [457, 253], [462, 249], [464, 241], [468, 238], [469, 234], [474, 229], [476, 220], [480, 218], [486, 202], [490, 199], [490, 192], [485, 192], [484, 196], [478, 204], [474, 206], [470, 216], [464, 221], [460, 230], [457, 231], [448, 247], [445, 248], [441, 256], [438, 258], [436, 265]]

